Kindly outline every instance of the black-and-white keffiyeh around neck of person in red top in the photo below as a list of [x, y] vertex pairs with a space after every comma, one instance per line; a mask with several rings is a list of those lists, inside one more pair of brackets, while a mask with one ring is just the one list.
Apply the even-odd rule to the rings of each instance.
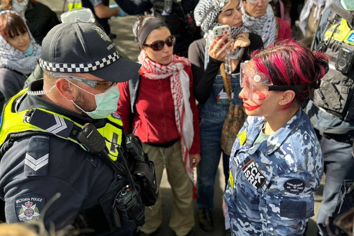
[[242, 25], [245, 27], [246, 32], [251, 32], [261, 36], [264, 48], [275, 42], [276, 23], [273, 8], [268, 4], [267, 10], [264, 15], [255, 18], [246, 13], [246, 10], [241, 6], [242, 11]]

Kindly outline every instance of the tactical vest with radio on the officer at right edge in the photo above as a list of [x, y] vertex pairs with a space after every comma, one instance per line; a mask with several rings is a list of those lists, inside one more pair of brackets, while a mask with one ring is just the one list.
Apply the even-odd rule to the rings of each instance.
[[[332, 5], [331, 5], [332, 6]], [[331, 8], [331, 7], [330, 7]], [[354, 27], [331, 8], [329, 18], [317, 51], [329, 56], [330, 69], [314, 90], [313, 103], [343, 121], [354, 119]]]

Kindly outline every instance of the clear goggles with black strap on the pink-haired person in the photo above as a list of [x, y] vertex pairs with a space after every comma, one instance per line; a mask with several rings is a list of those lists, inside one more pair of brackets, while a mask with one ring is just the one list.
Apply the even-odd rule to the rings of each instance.
[[271, 91], [301, 90], [311, 85], [273, 85], [269, 77], [256, 68], [248, 67], [248, 62], [240, 63], [240, 86], [243, 88], [242, 98], [264, 101]]

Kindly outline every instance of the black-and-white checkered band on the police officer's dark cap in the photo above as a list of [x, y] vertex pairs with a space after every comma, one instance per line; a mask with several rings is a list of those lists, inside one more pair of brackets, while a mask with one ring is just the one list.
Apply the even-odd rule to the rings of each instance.
[[39, 66], [42, 69], [55, 71], [55, 72], [66, 72], [66, 73], [84, 73], [90, 72], [94, 70], [101, 69], [106, 65], [109, 65], [119, 59], [119, 54], [115, 51], [112, 54], [109, 54], [107, 57], [104, 57], [96, 62], [92, 63], [74, 63], [74, 64], [66, 64], [66, 63], [51, 63], [42, 60], [39, 58]]

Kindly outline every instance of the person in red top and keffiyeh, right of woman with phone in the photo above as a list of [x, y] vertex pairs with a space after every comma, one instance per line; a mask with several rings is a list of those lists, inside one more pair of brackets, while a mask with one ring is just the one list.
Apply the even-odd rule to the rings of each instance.
[[275, 42], [291, 39], [288, 23], [274, 16], [270, 0], [242, 0], [242, 24], [246, 32], [253, 32], [262, 37], [264, 47]]

